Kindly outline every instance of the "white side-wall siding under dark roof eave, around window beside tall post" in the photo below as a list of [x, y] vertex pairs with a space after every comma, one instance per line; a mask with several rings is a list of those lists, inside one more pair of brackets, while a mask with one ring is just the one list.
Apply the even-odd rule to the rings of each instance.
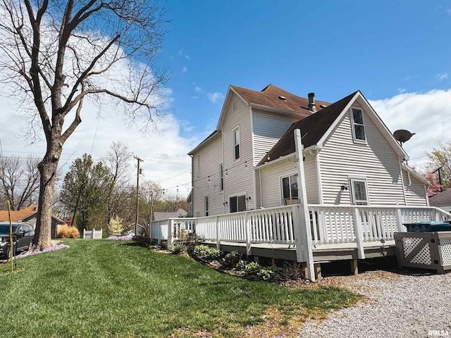
[[[261, 172], [262, 206], [271, 208], [282, 206], [281, 177], [297, 174], [294, 156], [285, 161], [267, 165]], [[305, 180], [307, 184], [307, 203], [318, 203], [318, 189], [314, 156], [307, 154], [304, 161]]]

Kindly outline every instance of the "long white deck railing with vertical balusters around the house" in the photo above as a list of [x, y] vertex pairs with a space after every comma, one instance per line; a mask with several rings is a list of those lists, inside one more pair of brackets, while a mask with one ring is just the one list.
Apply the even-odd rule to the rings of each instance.
[[[295, 227], [302, 226], [299, 210], [298, 204], [202, 218], [170, 218], [152, 222], [151, 237], [172, 243], [180, 230], [195, 230], [218, 245], [246, 243], [248, 251], [253, 243], [296, 244]], [[311, 232], [311, 244], [356, 243], [361, 256], [364, 242], [393, 240], [395, 232], [406, 231], [404, 223], [451, 220], [450, 213], [426, 206], [309, 205], [308, 211], [310, 222], [305, 226]]]

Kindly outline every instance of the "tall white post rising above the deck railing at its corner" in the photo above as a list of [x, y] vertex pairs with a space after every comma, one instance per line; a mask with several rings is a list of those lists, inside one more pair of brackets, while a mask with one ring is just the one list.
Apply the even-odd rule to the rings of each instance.
[[301, 139], [301, 130], [295, 129], [295, 149], [296, 149], [296, 163], [297, 163], [297, 194], [301, 204], [297, 205], [299, 210], [299, 223], [295, 227], [300, 227], [300, 238], [296, 239], [296, 251], [302, 245], [302, 253], [304, 261], [307, 263], [306, 277], [314, 281], [315, 269], [313, 262], [313, 251], [311, 248], [311, 226], [309, 206], [307, 205], [307, 185], [305, 183], [304, 171], [304, 154], [302, 154], [303, 146]]

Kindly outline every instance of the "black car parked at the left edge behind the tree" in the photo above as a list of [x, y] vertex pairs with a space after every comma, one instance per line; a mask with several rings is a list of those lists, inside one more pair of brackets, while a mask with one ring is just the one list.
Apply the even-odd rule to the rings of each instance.
[[[35, 238], [35, 230], [25, 222], [13, 222], [13, 256], [16, 251], [30, 249]], [[9, 222], [0, 222], [0, 257], [11, 257], [11, 246], [9, 239]]]

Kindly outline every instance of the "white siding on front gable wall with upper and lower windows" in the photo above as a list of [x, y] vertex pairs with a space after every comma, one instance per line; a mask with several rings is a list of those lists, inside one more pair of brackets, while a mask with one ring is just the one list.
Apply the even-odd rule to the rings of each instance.
[[[363, 105], [362, 105], [363, 106]], [[350, 204], [351, 190], [341, 191], [349, 177], [366, 177], [369, 202], [377, 204], [404, 204], [400, 164], [394, 149], [362, 109], [366, 143], [354, 143], [350, 113], [347, 111], [323, 149], [321, 184], [323, 204]]]

